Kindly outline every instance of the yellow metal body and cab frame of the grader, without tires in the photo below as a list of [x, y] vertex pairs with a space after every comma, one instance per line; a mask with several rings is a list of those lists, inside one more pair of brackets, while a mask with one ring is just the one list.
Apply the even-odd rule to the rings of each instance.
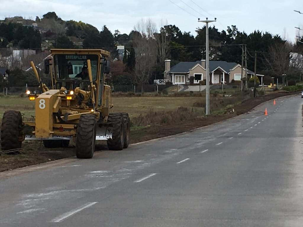
[[[94, 85], [92, 81], [92, 71], [91, 71], [91, 62], [88, 59], [88, 75], [89, 75], [89, 82], [90, 87], [92, 91], [85, 92], [79, 88], [76, 88], [74, 90], [73, 95], [66, 95], [64, 94], [65, 87], [62, 87], [59, 90], [49, 90], [48, 87], [45, 86], [45, 84], [41, 83], [40, 77], [38, 75], [38, 72], [36, 70], [35, 64], [31, 62], [33, 71], [35, 73], [35, 76], [37, 77], [37, 80], [40, 83], [40, 87], [43, 91], [40, 95], [30, 95], [35, 97], [35, 122], [24, 122], [26, 125], [33, 127], [33, 133], [35, 133], [36, 138], [49, 138], [52, 136], [75, 136], [76, 134], [76, 127], [77, 123], [79, 122], [79, 119], [82, 114], [95, 114], [96, 118], [100, 118], [100, 113], [102, 113], [102, 116], [104, 117], [104, 121], [106, 122], [107, 116], [109, 113], [112, 112], [112, 98], [111, 98], [111, 87], [108, 85], [104, 85], [105, 76], [102, 72], [101, 67], [101, 58], [105, 57], [108, 58], [110, 56], [110, 53], [108, 51], [104, 50], [97, 50], [97, 49], [51, 49], [51, 58], [53, 61], [53, 56], [55, 54], [94, 54], [98, 55], [98, 73], [96, 78], [96, 84], [97, 87]], [[52, 77], [52, 87], [54, 87], [54, 83], [62, 80], [57, 80], [57, 77], [54, 76], [53, 78], [53, 72], [55, 70], [53, 69], [55, 67], [55, 63], [53, 62], [52, 65], [50, 65], [50, 74]], [[102, 78], [102, 81], [100, 79]], [[65, 81], [67, 82], [67, 81]], [[103, 87], [102, 87], [103, 86]], [[97, 105], [95, 108], [95, 104], [98, 104], [98, 97], [100, 89], [103, 88], [103, 94], [101, 95], [102, 98], [102, 106]], [[83, 94], [86, 98], [91, 96], [92, 94], [92, 104], [93, 104], [93, 110], [91, 111], [91, 108], [88, 107], [85, 103], [85, 101], [82, 102], [81, 105], [78, 104], [78, 101], [75, 99], [78, 93]], [[96, 92], [96, 97], [95, 97]], [[87, 97], [88, 96], [88, 97]], [[71, 100], [67, 100], [67, 97], [72, 97]], [[98, 111], [96, 111], [98, 110]], [[62, 115], [68, 113], [66, 116], [68, 123], [60, 123], [58, 120], [55, 119], [53, 113], [61, 112]], [[73, 113], [74, 112], [74, 113]], [[61, 115], [61, 116], [62, 116]]]

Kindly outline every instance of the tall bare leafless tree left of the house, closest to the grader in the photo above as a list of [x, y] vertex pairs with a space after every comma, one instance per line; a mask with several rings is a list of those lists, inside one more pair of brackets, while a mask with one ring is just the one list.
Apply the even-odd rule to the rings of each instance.
[[156, 64], [156, 24], [151, 19], [142, 19], [134, 27], [133, 47], [136, 51], [136, 64], [134, 71], [134, 82], [141, 85], [144, 93], [144, 84], [151, 77]]

